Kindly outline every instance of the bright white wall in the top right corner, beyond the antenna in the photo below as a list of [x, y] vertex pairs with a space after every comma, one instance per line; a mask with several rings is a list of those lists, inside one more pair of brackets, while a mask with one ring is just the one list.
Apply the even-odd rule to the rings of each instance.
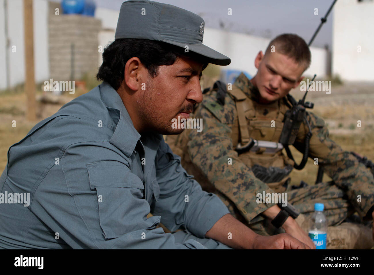
[[374, 80], [373, 14], [374, 1], [339, 0], [335, 4], [332, 71], [343, 80]]

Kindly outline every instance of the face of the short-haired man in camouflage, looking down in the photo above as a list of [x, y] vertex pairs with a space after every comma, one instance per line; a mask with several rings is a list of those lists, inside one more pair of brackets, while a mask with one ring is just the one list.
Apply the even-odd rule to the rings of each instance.
[[303, 79], [304, 66], [294, 59], [277, 52], [258, 53], [255, 59], [258, 69], [255, 85], [260, 92], [261, 102], [270, 103], [279, 100], [296, 88]]

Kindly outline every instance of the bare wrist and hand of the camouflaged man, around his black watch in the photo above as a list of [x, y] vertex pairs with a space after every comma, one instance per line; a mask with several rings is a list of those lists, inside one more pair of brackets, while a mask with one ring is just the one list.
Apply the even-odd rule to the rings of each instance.
[[[274, 205], [263, 212], [263, 214], [268, 217], [270, 220], [273, 220], [281, 211], [278, 205]], [[304, 244], [308, 245], [312, 249], [316, 249], [313, 241], [309, 238], [307, 233], [297, 224], [297, 222], [292, 219], [292, 217], [288, 217], [285, 223], [282, 225], [283, 229], [291, 235], [292, 237], [298, 239], [299, 241], [303, 242]]]

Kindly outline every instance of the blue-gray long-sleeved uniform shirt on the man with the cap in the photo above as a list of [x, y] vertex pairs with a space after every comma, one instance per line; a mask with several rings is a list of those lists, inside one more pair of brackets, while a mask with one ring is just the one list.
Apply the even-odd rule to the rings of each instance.
[[[156, 226], [204, 238], [229, 213], [162, 135], [135, 130], [106, 82], [9, 148], [0, 190], [0, 248], [205, 248]], [[30, 194], [28, 206], [11, 203], [19, 193]]]

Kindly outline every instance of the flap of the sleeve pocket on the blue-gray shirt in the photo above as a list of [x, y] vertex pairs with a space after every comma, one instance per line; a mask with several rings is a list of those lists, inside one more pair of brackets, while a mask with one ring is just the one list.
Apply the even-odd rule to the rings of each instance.
[[128, 166], [118, 161], [100, 161], [87, 164], [91, 190], [95, 187], [132, 187], [144, 189], [143, 182]]

